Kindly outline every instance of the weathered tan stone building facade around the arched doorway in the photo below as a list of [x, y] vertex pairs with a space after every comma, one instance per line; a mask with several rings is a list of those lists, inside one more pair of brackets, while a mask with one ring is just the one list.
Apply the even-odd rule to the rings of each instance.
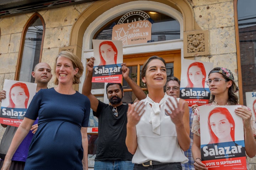
[[[86, 59], [92, 55], [91, 40], [96, 32], [115, 17], [132, 10], [154, 10], [170, 15], [180, 22], [181, 33], [177, 40], [124, 46], [124, 55], [127, 58], [133, 55], [129, 59], [136, 61], [133, 59], [134, 54], [155, 54], [158, 51], [179, 49], [181, 59], [213, 62], [214, 67], [229, 68], [234, 73], [235, 82], [242, 89], [236, 3], [236, 0], [98, 0], [1, 17], [0, 89], [4, 79], [17, 80], [24, 29], [35, 13], [45, 23], [40, 61], [47, 62], [54, 68], [55, 57], [61, 50], [72, 51], [81, 57], [85, 66]], [[197, 43], [192, 43], [191, 37], [194, 37]], [[242, 36], [240, 38], [242, 39]], [[202, 48], [197, 48], [199, 44]], [[251, 64], [253, 62], [251, 61]], [[174, 68], [176, 75], [181, 68], [181, 62], [179, 63], [180, 65]], [[249, 74], [246, 71], [244, 73]], [[54, 87], [54, 78], [53, 71], [49, 88]], [[82, 82], [83, 79], [84, 76]], [[251, 86], [255, 84], [252, 83]], [[81, 92], [81, 84], [75, 88]], [[240, 101], [243, 101], [244, 94], [239, 92], [239, 96]], [[0, 137], [3, 133], [4, 128], [0, 128]], [[249, 161], [250, 170], [256, 170], [256, 158]]]

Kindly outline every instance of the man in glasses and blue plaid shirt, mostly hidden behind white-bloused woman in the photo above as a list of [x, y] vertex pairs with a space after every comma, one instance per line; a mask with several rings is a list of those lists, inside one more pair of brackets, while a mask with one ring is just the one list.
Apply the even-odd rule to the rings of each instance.
[[[167, 95], [179, 98], [180, 97], [180, 80], [177, 77], [167, 77], [164, 89]], [[180, 100], [184, 100], [184, 99], [180, 99]], [[184, 100], [184, 102], [186, 102], [186, 100]], [[187, 104], [186, 106], [188, 107]], [[197, 107], [198, 105], [196, 104], [192, 105], [191, 107], [188, 107], [190, 112], [190, 129], [191, 129], [193, 117], [194, 117], [193, 111]], [[190, 148], [184, 152], [185, 156], [188, 158], [188, 162], [185, 164], [181, 164], [183, 170], [194, 170], [194, 160], [191, 153], [191, 146], [193, 144], [193, 133], [191, 132], [190, 132], [190, 139], [191, 139]]]

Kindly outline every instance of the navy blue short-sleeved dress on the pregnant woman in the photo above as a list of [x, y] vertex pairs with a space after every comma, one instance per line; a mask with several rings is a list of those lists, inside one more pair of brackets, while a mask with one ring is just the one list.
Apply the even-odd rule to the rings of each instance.
[[[82, 170], [81, 127], [88, 127], [90, 100], [76, 92], [60, 94], [41, 89], [32, 99], [25, 117], [36, 120], [25, 170]], [[87, 149], [87, 148], [86, 148]]]

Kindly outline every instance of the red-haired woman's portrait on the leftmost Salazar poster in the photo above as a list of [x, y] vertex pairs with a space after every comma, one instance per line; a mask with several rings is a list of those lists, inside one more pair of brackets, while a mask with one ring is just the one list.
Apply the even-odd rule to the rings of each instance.
[[27, 84], [21, 82], [13, 84], [9, 92], [8, 108], [27, 109], [29, 97]]

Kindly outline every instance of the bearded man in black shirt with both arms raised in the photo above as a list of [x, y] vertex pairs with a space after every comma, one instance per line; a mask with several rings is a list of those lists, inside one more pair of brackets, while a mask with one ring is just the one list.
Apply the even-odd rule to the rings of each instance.
[[[94, 170], [132, 170], [133, 155], [126, 147], [126, 124], [128, 105], [122, 103], [124, 95], [120, 83], [107, 83], [106, 93], [110, 104], [98, 100], [92, 93], [92, 72], [94, 57], [86, 63], [87, 75], [82, 87], [82, 94], [91, 102], [94, 116], [98, 117], [98, 142]], [[146, 98], [142, 89], [129, 77], [129, 68], [122, 64], [123, 78], [132, 88], [138, 100]]]

